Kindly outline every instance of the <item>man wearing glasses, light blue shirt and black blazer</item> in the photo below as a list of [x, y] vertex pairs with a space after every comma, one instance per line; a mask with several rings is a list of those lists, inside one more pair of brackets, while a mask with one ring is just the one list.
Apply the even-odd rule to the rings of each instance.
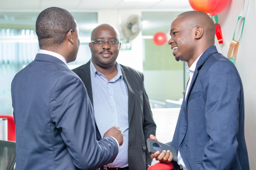
[[[73, 71], [81, 78], [94, 107], [97, 139], [119, 126], [124, 142], [106, 170], [145, 170], [152, 159], [145, 141], [156, 133], [141, 72], [116, 62], [119, 32], [109, 24], [96, 27], [89, 47], [92, 58]], [[103, 136], [104, 137], [104, 136]]]

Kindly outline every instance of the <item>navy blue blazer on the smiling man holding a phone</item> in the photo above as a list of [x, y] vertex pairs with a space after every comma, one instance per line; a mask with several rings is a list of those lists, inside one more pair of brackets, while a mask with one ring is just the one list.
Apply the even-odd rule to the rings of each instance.
[[238, 71], [211, 46], [196, 64], [169, 144], [179, 150], [188, 170], [249, 170], [244, 117]]

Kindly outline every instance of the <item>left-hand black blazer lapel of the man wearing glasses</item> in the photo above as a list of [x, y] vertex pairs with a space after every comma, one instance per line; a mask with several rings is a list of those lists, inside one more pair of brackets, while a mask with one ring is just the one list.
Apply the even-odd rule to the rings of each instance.
[[90, 61], [84, 65], [84, 67], [81, 68], [83, 71], [81, 72], [81, 80], [83, 81], [89, 99], [91, 100], [91, 103], [93, 105], [93, 91], [92, 91], [92, 81], [91, 81], [91, 70], [90, 70]]

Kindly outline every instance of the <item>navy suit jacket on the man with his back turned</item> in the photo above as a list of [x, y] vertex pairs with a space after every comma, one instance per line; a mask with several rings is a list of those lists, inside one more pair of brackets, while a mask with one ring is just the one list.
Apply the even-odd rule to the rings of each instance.
[[11, 83], [16, 169], [96, 169], [113, 162], [116, 141], [96, 140], [81, 79], [58, 58], [37, 54]]

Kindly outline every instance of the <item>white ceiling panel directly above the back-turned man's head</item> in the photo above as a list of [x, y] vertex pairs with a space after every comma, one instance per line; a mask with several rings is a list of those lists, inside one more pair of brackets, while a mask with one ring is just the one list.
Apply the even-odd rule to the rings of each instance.
[[63, 1], [63, 0], [42, 0], [40, 4], [41, 9], [48, 7], [60, 7], [64, 9], [77, 9], [81, 0]]

